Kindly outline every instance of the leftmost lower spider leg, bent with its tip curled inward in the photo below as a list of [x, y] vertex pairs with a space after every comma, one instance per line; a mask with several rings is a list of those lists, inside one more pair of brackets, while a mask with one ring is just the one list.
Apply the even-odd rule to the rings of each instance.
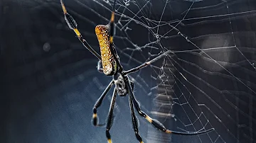
[[112, 87], [112, 85], [114, 84], [114, 81], [112, 80], [110, 82], [110, 84], [107, 86], [107, 88], [105, 88], [105, 91], [103, 91], [102, 95], [100, 96], [100, 98], [98, 98], [97, 102], [95, 103], [92, 112], [92, 124], [98, 127], [101, 127], [105, 124], [98, 124], [98, 118], [97, 118], [97, 108], [100, 107], [100, 105], [102, 104], [103, 98], [105, 98], [105, 96], [107, 95], [107, 92], [110, 91], [110, 88]]

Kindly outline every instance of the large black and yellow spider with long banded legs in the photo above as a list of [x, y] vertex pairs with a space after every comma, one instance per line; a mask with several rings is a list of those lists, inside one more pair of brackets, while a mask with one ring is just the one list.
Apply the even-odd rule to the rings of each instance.
[[113, 110], [114, 110], [114, 103], [117, 97], [117, 93], [119, 96], [126, 96], [128, 94], [129, 96], [129, 108], [132, 114], [132, 125], [135, 132], [135, 136], [137, 137], [137, 140], [140, 143], [143, 143], [142, 137], [139, 135], [138, 130], [138, 120], [136, 118], [136, 115], [134, 113], [134, 108], [137, 110], [139, 115], [141, 115], [143, 118], [145, 118], [151, 125], [156, 127], [156, 129], [161, 130], [162, 132], [166, 132], [168, 134], [178, 134], [178, 135], [199, 135], [206, 132], [210, 132], [214, 130], [214, 128], [211, 128], [209, 130], [201, 131], [201, 132], [177, 132], [166, 129], [161, 122], [158, 120], [155, 120], [149, 115], [146, 115], [144, 113], [140, 106], [139, 102], [134, 97], [133, 88], [134, 84], [132, 81], [129, 80], [129, 76], [127, 76], [130, 73], [133, 73], [135, 71], [139, 71], [140, 69], [150, 65], [152, 62], [155, 62], [156, 60], [160, 59], [164, 55], [167, 55], [170, 51], [166, 51], [159, 55], [158, 57], [155, 57], [154, 59], [151, 59], [149, 62], [145, 62], [144, 64], [139, 65], [138, 67], [134, 67], [133, 69], [129, 69], [127, 71], [124, 71], [122, 65], [120, 64], [119, 57], [117, 55], [117, 51], [114, 47], [114, 13], [115, 13], [115, 5], [116, 0], [114, 0], [114, 4], [112, 7], [112, 14], [110, 18], [110, 23], [107, 25], [97, 25], [95, 28], [95, 33], [97, 35], [97, 39], [100, 44], [100, 53], [101, 56], [95, 52], [95, 50], [92, 49], [92, 47], [88, 44], [88, 42], [82, 38], [82, 35], [80, 31], [78, 30], [78, 24], [75, 22], [74, 18], [67, 12], [63, 0], [60, 0], [60, 4], [63, 8], [63, 13], [65, 17], [66, 23], [68, 23], [68, 27], [72, 30], [74, 30], [75, 35], [78, 37], [80, 42], [82, 42], [82, 45], [87, 48], [90, 52], [92, 52], [95, 57], [99, 59], [99, 62], [97, 63], [97, 70], [100, 72], [103, 72], [106, 76], [112, 76], [112, 81], [110, 81], [110, 84], [105, 88], [105, 91], [103, 91], [102, 95], [98, 100], [96, 101], [93, 109], [92, 109], [92, 124], [95, 126], [104, 126], [105, 124], [99, 124], [98, 118], [97, 118], [97, 108], [100, 107], [103, 98], [107, 95], [110, 88], [115, 85], [114, 92], [112, 95], [112, 100], [110, 103], [110, 110], [107, 115], [107, 125], [106, 125], [106, 136], [107, 136], [107, 142], [112, 143], [112, 139], [110, 136], [110, 128], [112, 127], [112, 118], [113, 118]]

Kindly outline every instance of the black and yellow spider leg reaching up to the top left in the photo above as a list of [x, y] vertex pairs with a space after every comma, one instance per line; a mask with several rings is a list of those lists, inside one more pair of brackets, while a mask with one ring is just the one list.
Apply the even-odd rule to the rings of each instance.
[[79, 32], [79, 30], [78, 30], [78, 24], [75, 22], [75, 19], [67, 12], [67, 10], [66, 10], [66, 8], [64, 6], [63, 0], [60, 0], [60, 4], [61, 4], [61, 6], [63, 8], [63, 13], [64, 13], [64, 16], [65, 16], [65, 21], [66, 21], [66, 23], [68, 23], [68, 27], [70, 29], [74, 30], [75, 34], [78, 36], [78, 39], [80, 40], [80, 42], [82, 42], [82, 45], [84, 47], [86, 47], [87, 50], [92, 52], [92, 54], [95, 55], [95, 57], [97, 57], [98, 59], [101, 60], [100, 55], [94, 49], [92, 49], [92, 47], [88, 44], [88, 42], [85, 39], [82, 38], [82, 35]]

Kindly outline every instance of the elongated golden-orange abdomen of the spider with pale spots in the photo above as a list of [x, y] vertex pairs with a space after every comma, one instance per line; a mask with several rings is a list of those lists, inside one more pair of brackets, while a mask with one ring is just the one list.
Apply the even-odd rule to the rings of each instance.
[[97, 25], [95, 33], [100, 44], [103, 72], [107, 76], [112, 76], [117, 71], [117, 62], [114, 59], [114, 53], [110, 49], [108, 25]]

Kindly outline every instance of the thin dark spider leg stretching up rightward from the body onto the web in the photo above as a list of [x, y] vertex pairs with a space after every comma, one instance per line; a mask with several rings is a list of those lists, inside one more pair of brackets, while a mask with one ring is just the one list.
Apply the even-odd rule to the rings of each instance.
[[123, 74], [124, 75], [131, 74], [132, 72], [135, 72], [135, 71], [138, 71], [139, 69], [147, 67], [151, 63], [156, 62], [158, 59], [161, 59], [161, 57], [164, 57], [165, 55], [168, 55], [170, 52], [171, 52], [171, 50], [168, 50], [168, 51], [162, 53], [161, 55], [155, 57], [154, 59], [151, 59], [149, 62], [144, 62], [143, 64], [139, 65], [138, 67], [134, 67], [132, 69], [129, 69], [128, 71], [124, 71]]

